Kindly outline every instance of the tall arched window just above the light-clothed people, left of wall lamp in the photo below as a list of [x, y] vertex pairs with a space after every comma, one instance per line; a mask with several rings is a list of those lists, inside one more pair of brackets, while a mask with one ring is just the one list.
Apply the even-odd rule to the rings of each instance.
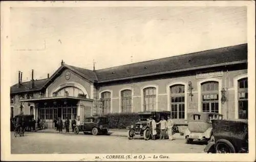
[[185, 118], [185, 86], [170, 86], [170, 104], [172, 108], [173, 119]]

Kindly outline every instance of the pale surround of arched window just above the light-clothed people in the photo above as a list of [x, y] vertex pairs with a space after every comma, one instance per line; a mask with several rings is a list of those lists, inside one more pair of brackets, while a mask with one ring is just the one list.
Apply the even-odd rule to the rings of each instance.
[[184, 91], [184, 95], [185, 95], [185, 119], [187, 119], [187, 83], [185, 82], [172, 82], [172, 83], [169, 83], [166, 85], [166, 91], [167, 91], [167, 110], [170, 111], [170, 86], [173, 86], [173, 85], [177, 85], [177, 84], [181, 84], [181, 85], [184, 85], [185, 87], [185, 91]]

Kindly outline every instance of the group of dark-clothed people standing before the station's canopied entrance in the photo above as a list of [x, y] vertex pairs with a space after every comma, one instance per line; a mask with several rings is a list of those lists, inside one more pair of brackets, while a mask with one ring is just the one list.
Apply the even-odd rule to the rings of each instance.
[[[57, 120], [56, 118], [54, 118], [53, 123], [54, 123], [54, 129], [59, 131], [59, 132], [62, 132], [62, 129], [63, 129], [62, 119], [58, 118], [58, 120]], [[66, 120], [64, 122], [64, 126], [65, 126], [65, 129], [66, 129], [66, 132], [69, 132], [69, 127], [70, 127], [69, 118], [66, 118]], [[75, 126], [76, 126], [76, 121], [75, 121], [74, 118], [72, 118], [72, 121], [71, 121], [72, 132], [74, 132]]]

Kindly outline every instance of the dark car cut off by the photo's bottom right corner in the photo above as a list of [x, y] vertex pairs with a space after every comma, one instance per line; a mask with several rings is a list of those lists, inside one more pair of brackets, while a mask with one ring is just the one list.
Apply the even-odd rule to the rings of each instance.
[[208, 143], [207, 153], [248, 153], [248, 121], [212, 120], [214, 141]]

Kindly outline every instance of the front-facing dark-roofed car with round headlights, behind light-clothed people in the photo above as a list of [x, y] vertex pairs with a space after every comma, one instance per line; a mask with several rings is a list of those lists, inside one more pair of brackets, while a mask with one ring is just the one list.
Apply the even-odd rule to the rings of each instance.
[[[135, 123], [135, 125], [131, 125], [127, 127], [127, 137], [129, 140], [134, 138], [136, 135], [143, 136], [144, 140], [150, 140], [152, 138], [152, 134], [150, 131], [150, 126], [148, 125], [148, 120], [153, 117], [153, 119], [157, 122], [161, 120], [161, 117], [164, 117], [167, 120], [167, 116], [170, 115], [170, 111], [144, 111], [138, 112], [139, 121]], [[160, 136], [160, 124], [157, 125], [157, 135]], [[168, 138], [167, 131], [165, 138]]]

